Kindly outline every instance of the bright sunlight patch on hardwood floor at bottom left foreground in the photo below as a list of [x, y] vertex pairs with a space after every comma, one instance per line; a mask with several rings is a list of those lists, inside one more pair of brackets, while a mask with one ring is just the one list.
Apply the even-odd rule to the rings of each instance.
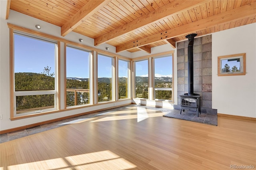
[[41, 160], [24, 164], [16, 164], [8, 167], [0, 167], [3, 169], [47, 169], [47, 170], [65, 170], [65, 169], [109, 169], [109, 170], [128, 170], [137, 166], [131, 162], [120, 158], [110, 150], [100, 152], [92, 152], [67, 156], [65, 158], [54, 158], [49, 160]]

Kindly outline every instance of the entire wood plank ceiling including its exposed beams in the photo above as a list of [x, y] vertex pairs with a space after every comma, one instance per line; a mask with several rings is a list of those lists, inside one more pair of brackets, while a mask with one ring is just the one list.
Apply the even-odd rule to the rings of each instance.
[[[256, 0], [9, 0], [10, 10], [108, 43], [116, 52], [151, 47], [256, 22]], [[7, 7], [8, 8], [8, 7]], [[6, 16], [8, 17], [8, 15]]]

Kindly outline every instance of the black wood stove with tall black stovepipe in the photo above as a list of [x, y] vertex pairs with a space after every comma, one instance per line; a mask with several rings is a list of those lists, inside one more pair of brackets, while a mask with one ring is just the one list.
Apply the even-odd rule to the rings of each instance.
[[189, 109], [197, 112], [197, 117], [199, 113], [201, 114], [201, 96], [194, 93], [194, 66], [193, 66], [193, 45], [194, 37], [197, 34], [189, 34], [186, 36], [188, 38], [188, 93], [180, 95], [180, 114], [183, 110]]

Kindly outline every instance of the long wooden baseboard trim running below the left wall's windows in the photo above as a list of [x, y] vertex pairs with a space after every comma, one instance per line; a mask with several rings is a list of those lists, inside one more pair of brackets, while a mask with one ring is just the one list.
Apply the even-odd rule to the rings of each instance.
[[44, 125], [44, 124], [46, 124], [46, 123], [52, 123], [52, 122], [56, 122], [56, 121], [62, 121], [62, 120], [64, 120], [64, 119], [69, 119], [69, 118], [72, 118], [72, 117], [78, 117], [78, 116], [82, 116], [82, 115], [88, 115], [88, 114], [91, 114], [91, 113], [96, 113], [96, 112], [99, 112], [99, 111], [105, 111], [105, 110], [108, 110], [108, 109], [114, 109], [114, 108], [117, 108], [117, 107], [122, 107], [122, 106], [130, 105], [130, 104], [132, 104], [132, 103], [123, 104], [123, 105], [118, 105], [118, 106], [113, 106], [113, 107], [108, 107], [108, 108], [105, 108], [105, 109], [98, 109], [98, 110], [95, 110], [95, 111], [89, 111], [89, 112], [79, 113], [79, 114], [76, 114], [76, 115], [70, 115], [70, 116], [66, 116], [66, 117], [60, 117], [60, 118], [57, 118], [57, 119], [51, 119], [51, 120], [48, 120], [48, 121], [33, 123], [33, 124], [25, 125], [25, 126], [22, 126], [22, 127], [16, 127], [16, 128], [6, 129], [6, 130], [0, 130], [0, 134], [9, 133], [9, 132], [14, 132], [14, 131], [17, 131], [17, 130], [22, 130], [22, 129], [31, 128], [31, 127], [36, 127], [36, 126]]

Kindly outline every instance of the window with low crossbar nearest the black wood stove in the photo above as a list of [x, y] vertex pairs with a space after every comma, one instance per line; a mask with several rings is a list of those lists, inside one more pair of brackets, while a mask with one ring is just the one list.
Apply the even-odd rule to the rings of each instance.
[[172, 101], [172, 56], [157, 57], [153, 61], [155, 99]]

